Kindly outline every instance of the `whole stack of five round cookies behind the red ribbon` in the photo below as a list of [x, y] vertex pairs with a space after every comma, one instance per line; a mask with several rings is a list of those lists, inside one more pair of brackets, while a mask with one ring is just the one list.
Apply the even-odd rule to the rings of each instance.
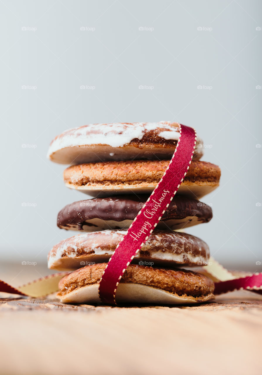
[[[59, 228], [80, 233], [48, 255], [50, 269], [73, 271], [59, 283], [61, 302], [100, 302], [106, 264], [163, 176], [178, 138], [179, 125], [162, 121], [85, 125], [51, 142], [49, 159], [70, 164], [65, 185], [94, 197], [58, 213]], [[203, 150], [197, 138], [183, 183], [120, 281], [118, 303], [198, 303], [214, 297], [213, 281], [189, 270], [207, 264], [208, 245], [181, 231], [212, 218], [211, 207], [198, 199], [219, 185], [220, 168], [199, 160]]]

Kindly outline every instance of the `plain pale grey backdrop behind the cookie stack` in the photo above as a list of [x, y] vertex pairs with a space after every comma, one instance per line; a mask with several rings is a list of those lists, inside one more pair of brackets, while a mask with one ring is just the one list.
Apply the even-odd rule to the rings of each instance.
[[87, 123], [174, 120], [196, 128], [208, 145], [203, 160], [222, 169], [219, 189], [202, 199], [213, 220], [188, 232], [225, 266], [262, 271], [261, 1], [0, 7], [1, 259], [40, 264], [76, 234], [58, 229], [56, 216], [87, 196], [64, 187], [64, 166], [46, 159], [55, 135]]

